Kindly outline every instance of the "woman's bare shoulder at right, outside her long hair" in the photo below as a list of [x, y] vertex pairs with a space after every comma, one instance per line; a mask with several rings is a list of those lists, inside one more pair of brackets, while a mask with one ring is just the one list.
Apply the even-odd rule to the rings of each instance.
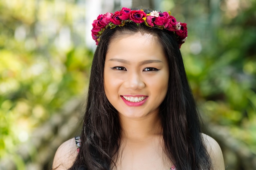
[[225, 164], [220, 145], [216, 142], [215, 139], [206, 134], [202, 133], [202, 137], [204, 139], [207, 152], [211, 157], [213, 170], [225, 170]]

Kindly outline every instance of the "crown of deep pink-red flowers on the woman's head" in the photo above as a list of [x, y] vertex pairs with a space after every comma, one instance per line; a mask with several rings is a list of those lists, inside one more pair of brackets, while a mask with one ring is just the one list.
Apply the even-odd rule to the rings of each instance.
[[100, 36], [108, 27], [115, 28], [116, 26], [124, 26], [126, 22], [135, 22], [137, 24], [144, 23], [149, 27], [158, 27], [173, 31], [179, 47], [185, 42], [187, 37], [186, 23], [177, 22], [175, 17], [171, 16], [171, 12], [157, 12], [152, 11], [145, 13], [141, 10], [131, 10], [129, 8], [122, 8], [121, 11], [113, 13], [101, 14], [92, 23], [92, 39], [98, 45]]

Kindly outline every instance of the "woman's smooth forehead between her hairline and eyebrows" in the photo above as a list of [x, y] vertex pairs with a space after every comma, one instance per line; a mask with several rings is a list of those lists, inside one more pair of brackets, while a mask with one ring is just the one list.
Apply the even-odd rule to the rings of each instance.
[[137, 32], [113, 37], [106, 53], [106, 60], [111, 58], [141, 60], [163, 59], [165, 56], [155, 35]]

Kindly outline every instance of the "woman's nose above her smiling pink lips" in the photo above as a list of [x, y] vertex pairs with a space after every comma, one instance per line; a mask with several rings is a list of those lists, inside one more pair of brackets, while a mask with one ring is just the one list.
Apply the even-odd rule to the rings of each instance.
[[145, 87], [145, 83], [141, 75], [137, 72], [130, 72], [127, 75], [126, 81], [124, 85], [127, 89], [143, 89]]

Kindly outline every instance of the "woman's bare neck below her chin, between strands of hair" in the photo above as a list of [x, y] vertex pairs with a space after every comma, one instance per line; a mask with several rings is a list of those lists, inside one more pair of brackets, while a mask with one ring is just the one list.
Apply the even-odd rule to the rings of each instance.
[[127, 118], [120, 116], [121, 137], [139, 142], [162, 135], [161, 120], [158, 114], [150, 114], [144, 118]]

